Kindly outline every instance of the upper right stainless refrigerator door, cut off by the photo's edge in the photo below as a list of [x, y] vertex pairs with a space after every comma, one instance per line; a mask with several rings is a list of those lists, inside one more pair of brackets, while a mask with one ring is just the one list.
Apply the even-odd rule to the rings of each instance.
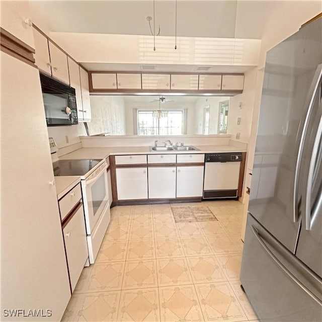
[[[319, 95], [319, 98], [321, 95]], [[319, 100], [305, 142], [301, 170], [302, 227], [296, 256], [322, 277], [322, 103]]]

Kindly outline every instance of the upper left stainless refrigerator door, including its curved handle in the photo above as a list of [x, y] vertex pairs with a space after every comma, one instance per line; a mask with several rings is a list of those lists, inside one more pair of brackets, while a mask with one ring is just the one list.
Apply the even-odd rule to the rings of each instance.
[[249, 211], [295, 253], [303, 129], [321, 77], [322, 19], [267, 53]]

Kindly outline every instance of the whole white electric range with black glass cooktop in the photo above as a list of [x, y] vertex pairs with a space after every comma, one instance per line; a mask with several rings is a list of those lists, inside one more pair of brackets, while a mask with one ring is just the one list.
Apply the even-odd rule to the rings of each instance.
[[111, 218], [106, 160], [60, 160], [54, 140], [49, 142], [54, 176], [81, 177], [89, 260], [94, 264]]

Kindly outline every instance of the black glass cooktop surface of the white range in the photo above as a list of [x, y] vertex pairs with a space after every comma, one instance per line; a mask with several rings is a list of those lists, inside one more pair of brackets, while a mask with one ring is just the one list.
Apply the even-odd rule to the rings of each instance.
[[54, 176], [84, 176], [101, 161], [102, 159], [58, 160], [52, 164]]

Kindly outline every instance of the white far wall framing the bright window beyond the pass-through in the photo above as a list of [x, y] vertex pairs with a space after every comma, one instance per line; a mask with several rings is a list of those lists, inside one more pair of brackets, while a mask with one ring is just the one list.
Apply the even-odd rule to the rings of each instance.
[[[174, 98], [175, 100], [175, 98]], [[154, 104], [154, 105], [153, 105]], [[163, 110], [168, 111], [178, 111], [186, 109], [187, 112], [187, 134], [195, 134], [195, 108], [194, 103], [179, 103], [178, 102], [167, 102], [160, 106]], [[141, 111], [147, 110], [156, 110], [158, 109], [158, 103], [150, 102], [125, 102], [125, 118], [126, 118], [126, 135], [134, 134], [134, 118], [133, 118], [133, 109], [138, 109]]]

